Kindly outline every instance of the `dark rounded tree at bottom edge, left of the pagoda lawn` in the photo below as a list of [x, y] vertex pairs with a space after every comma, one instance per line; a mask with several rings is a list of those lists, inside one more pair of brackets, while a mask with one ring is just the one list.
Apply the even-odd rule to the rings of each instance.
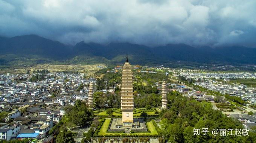
[[75, 140], [72, 137], [72, 132], [67, 131], [67, 129], [64, 129], [59, 132], [56, 142], [57, 143], [75, 143]]

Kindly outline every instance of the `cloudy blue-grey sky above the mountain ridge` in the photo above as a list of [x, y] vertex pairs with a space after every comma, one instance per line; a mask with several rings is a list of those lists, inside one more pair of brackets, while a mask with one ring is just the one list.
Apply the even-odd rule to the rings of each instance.
[[0, 35], [256, 47], [255, 0], [0, 0]]

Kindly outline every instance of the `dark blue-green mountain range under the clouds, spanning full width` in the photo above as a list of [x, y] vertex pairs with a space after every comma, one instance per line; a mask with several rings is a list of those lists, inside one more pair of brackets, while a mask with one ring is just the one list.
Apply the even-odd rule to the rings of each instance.
[[0, 37], [0, 65], [14, 64], [117, 64], [129, 55], [132, 64], [161, 64], [174, 61], [192, 63], [256, 64], [256, 49], [244, 46], [217, 48], [168, 44], [149, 47], [131, 43], [79, 42], [74, 46], [37, 35]]

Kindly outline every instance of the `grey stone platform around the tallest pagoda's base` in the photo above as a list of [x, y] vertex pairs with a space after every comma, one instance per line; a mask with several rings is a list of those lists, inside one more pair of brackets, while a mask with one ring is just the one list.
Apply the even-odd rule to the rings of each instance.
[[108, 127], [109, 132], [122, 132], [125, 133], [133, 130], [134, 132], [147, 132], [146, 122], [143, 118], [133, 118], [132, 127], [123, 127], [122, 118], [112, 118]]

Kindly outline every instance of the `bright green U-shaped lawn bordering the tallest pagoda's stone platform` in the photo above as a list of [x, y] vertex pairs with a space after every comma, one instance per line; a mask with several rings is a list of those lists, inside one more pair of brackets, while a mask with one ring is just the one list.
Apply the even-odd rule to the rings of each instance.
[[[125, 133], [107, 133], [108, 127], [110, 125], [111, 118], [106, 118], [105, 122], [103, 123], [101, 129], [99, 130], [99, 135], [111, 135], [111, 134], [125, 134]], [[131, 135], [133, 134], [138, 134], [138, 135], [158, 135], [157, 131], [155, 130], [155, 126], [153, 125], [152, 121], [149, 119], [146, 119], [146, 124], [148, 125], [148, 130], [151, 131], [151, 133], [130, 133]]]

